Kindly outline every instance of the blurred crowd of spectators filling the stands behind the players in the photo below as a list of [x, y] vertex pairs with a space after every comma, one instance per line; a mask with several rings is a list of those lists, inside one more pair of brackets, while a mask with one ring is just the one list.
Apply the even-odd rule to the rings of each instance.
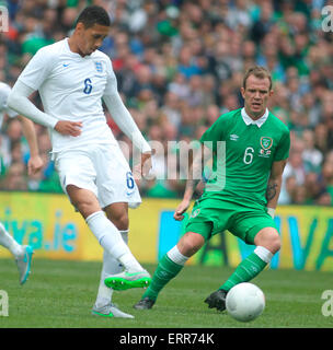
[[[269, 109], [291, 132], [279, 203], [333, 203], [333, 33], [323, 31], [321, 12], [326, 1], [8, 0], [0, 81], [12, 85], [37, 49], [69, 36], [78, 13], [92, 3], [111, 15], [101, 50], [112, 59], [126, 106], [145, 137], [165, 145], [154, 155], [158, 178], [140, 184], [143, 196], [182, 196], [185, 182], [168, 179], [168, 141], [198, 139], [222, 113], [242, 107], [243, 73], [261, 65], [273, 74]], [[37, 94], [34, 102], [42, 108]], [[106, 116], [120, 143], [129, 144]], [[7, 119], [1, 189], [61, 191], [48, 132], [41, 126], [36, 131], [45, 167], [27, 178], [21, 126]], [[176, 148], [169, 147], [168, 155], [177, 162]]]

